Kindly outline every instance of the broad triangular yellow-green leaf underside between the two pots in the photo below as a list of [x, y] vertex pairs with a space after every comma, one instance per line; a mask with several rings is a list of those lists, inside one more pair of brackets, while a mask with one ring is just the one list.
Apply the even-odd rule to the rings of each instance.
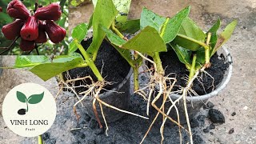
[[137, 50], [142, 53], [154, 53], [167, 51], [166, 44], [153, 27], [146, 26], [134, 38], [131, 38], [121, 48], [129, 50]]

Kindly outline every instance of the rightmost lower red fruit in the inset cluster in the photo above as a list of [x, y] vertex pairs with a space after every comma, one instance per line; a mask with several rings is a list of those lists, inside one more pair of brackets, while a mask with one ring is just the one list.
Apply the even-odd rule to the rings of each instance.
[[46, 33], [51, 42], [58, 43], [66, 36], [66, 30], [56, 25], [53, 21], [46, 21]]

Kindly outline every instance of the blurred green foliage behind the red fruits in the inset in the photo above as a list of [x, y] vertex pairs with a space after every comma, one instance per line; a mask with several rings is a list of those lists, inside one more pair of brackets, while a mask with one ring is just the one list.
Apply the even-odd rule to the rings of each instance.
[[[6, 14], [6, 7], [8, 5], [8, 3], [11, 2], [11, 0], [0, 0], [0, 6], [2, 7], [2, 13], [0, 13], [0, 28], [2, 29], [2, 26], [13, 22], [14, 18], [10, 18], [10, 16], [8, 14]], [[28, 10], [34, 10], [35, 9], [35, 2], [37, 2], [37, 0], [22, 0], [23, 4], [28, 8]], [[42, 5], [42, 6], [47, 6], [52, 2], [58, 2], [61, 6], [62, 6], [62, 17], [56, 21], [56, 23], [58, 24], [58, 26], [62, 26], [63, 28], [66, 29], [66, 38], [58, 43], [58, 44], [54, 44], [52, 42], [50, 42], [50, 40], [48, 40], [48, 42], [42, 44], [42, 46], [38, 47], [38, 51], [39, 54], [41, 55], [64, 55], [67, 54], [67, 50], [68, 50], [68, 0], [38, 0], [38, 4]], [[10, 43], [12, 41], [7, 40], [4, 35], [2, 34], [2, 30], [0, 32], [0, 47], [8, 47], [10, 46]], [[14, 48], [9, 51], [6, 52], [5, 55], [26, 55], [28, 54], [27, 52], [22, 52], [22, 50], [20, 50], [19, 48], [19, 42], [20, 42], [20, 38], [18, 39], [18, 41], [15, 43]], [[2, 53], [2, 49], [0, 49], [0, 53]], [[30, 55], [37, 55], [36, 50], [33, 50]]]

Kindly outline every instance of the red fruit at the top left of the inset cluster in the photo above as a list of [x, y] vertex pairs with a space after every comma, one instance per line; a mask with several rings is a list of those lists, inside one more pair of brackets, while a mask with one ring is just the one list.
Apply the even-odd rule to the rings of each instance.
[[11, 1], [7, 6], [7, 13], [13, 18], [26, 20], [30, 17], [30, 11], [19, 0]]

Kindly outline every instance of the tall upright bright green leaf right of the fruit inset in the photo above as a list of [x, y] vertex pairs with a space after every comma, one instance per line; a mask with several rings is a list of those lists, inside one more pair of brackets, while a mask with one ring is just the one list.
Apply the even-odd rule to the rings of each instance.
[[112, 0], [98, 0], [94, 10], [93, 16], [93, 29], [94, 37], [93, 42], [90, 44], [87, 52], [89, 54], [96, 54], [105, 38], [105, 31], [102, 30], [101, 25], [109, 28], [114, 22], [115, 16], [118, 14]]

